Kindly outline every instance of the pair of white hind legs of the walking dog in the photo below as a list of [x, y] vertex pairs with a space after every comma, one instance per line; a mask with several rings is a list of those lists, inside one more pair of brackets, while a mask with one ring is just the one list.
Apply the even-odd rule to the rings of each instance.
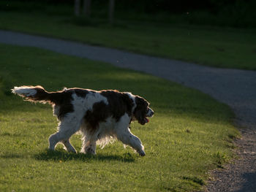
[[62, 142], [67, 151], [76, 153], [75, 148], [70, 144], [69, 138], [80, 128], [80, 120], [72, 115], [64, 118], [59, 123], [59, 131], [49, 137], [49, 149], [54, 150], [58, 142]]

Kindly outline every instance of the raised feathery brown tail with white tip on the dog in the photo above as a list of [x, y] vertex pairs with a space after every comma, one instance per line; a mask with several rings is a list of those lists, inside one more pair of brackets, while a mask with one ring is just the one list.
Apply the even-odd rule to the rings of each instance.
[[26, 101], [34, 101], [41, 103], [52, 103], [49, 92], [45, 91], [42, 86], [21, 86], [14, 87], [12, 93], [18, 94], [26, 99]]

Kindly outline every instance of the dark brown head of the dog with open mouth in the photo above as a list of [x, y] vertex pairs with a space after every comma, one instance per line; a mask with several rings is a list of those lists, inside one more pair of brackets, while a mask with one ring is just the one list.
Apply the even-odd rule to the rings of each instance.
[[153, 117], [154, 111], [148, 107], [149, 103], [146, 99], [140, 96], [135, 97], [135, 111], [133, 112], [134, 118], [138, 120], [141, 125], [148, 123], [148, 118]]

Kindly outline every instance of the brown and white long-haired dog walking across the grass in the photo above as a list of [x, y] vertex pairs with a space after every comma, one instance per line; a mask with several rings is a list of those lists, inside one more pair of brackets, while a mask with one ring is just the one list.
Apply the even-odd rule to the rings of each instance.
[[83, 136], [81, 153], [96, 154], [96, 144], [104, 147], [111, 139], [118, 139], [140, 155], [145, 155], [140, 139], [129, 130], [132, 120], [144, 125], [154, 115], [148, 101], [140, 96], [82, 88], [48, 92], [41, 86], [15, 87], [12, 93], [25, 97], [27, 101], [52, 104], [53, 115], [57, 116], [59, 126], [58, 131], [49, 137], [50, 150], [61, 142], [67, 151], [76, 153], [69, 138], [80, 131]]

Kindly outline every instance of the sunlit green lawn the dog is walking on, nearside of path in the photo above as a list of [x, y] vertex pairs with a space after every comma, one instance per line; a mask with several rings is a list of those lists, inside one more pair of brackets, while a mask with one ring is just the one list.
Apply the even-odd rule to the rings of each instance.
[[[32, 47], [0, 45], [0, 191], [199, 191], [208, 170], [233, 158], [233, 112], [199, 91], [132, 70]], [[14, 85], [131, 91], [151, 102], [154, 118], [132, 123], [146, 156], [121, 142], [97, 155], [48, 148], [57, 120], [49, 105], [12, 95]], [[81, 141], [72, 144], [79, 151]]]

